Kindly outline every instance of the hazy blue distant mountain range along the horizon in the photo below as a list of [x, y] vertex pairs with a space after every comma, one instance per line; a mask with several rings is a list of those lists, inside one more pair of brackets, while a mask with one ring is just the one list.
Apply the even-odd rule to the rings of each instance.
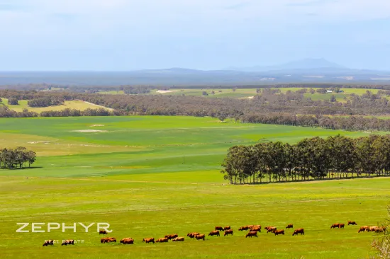
[[230, 67], [221, 70], [184, 68], [138, 71], [1, 72], [0, 85], [261, 85], [300, 83], [390, 84], [390, 71], [348, 69], [326, 59], [301, 59], [268, 67]]

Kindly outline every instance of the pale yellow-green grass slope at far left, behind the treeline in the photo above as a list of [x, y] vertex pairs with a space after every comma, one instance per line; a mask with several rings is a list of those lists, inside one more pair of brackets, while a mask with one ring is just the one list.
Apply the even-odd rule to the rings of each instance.
[[35, 113], [40, 113], [48, 110], [65, 110], [66, 108], [76, 109], [76, 110], [87, 110], [88, 108], [91, 109], [105, 108], [103, 106], [94, 105], [93, 103], [84, 102], [83, 100], [65, 100], [65, 103], [63, 105], [55, 105], [49, 107], [30, 107], [27, 105], [28, 100], [19, 100], [18, 102], [19, 105], [9, 105], [8, 99], [6, 98], [1, 98], [1, 99], [2, 101], [0, 102], [0, 105], [6, 105], [11, 110], [16, 110], [17, 112], [21, 112], [23, 109], [27, 109]]

